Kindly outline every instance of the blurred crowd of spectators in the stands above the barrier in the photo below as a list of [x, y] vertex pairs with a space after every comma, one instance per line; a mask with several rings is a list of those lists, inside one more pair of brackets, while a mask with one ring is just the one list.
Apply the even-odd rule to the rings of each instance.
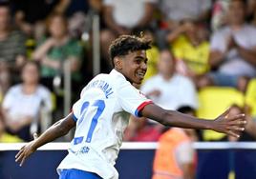
[[[33, 132], [63, 115], [66, 62], [72, 101], [79, 97], [93, 77], [94, 15], [99, 16], [101, 72], [112, 69], [108, 47], [118, 35], [151, 38], [148, 71], [138, 86], [145, 95], [162, 108], [205, 117], [199, 112], [203, 103], [225, 102], [205, 102], [203, 89], [236, 90], [243, 102], [231, 97], [226, 107], [246, 111], [250, 126], [241, 140], [254, 140], [255, 0], [1, 0], [0, 141], [8, 141], [4, 134], [30, 141]], [[130, 123], [127, 141], [158, 141], [168, 131], [149, 119], [131, 117]], [[206, 140], [202, 131], [185, 132]]]

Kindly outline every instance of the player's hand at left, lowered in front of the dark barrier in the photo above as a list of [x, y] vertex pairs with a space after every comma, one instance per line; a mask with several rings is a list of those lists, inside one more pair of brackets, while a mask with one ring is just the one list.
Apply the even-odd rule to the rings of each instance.
[[36, 150], [36, 148], [34, 148], [34, 142], [37, 138], [36, 133], [33, 134], [33, 138], [34, 140], [32, 142], [23, 146], [15, 155], [15, 162], [20, 163], [20, 167], [24, 164], [25, 160]]

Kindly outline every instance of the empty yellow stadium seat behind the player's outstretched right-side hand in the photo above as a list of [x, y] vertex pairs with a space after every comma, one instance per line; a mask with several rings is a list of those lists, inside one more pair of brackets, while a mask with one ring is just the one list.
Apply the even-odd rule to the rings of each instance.
[[[243, 107], [245, 96], [233, 88], [207, 87], [199, 91], [199, 102], [198, 117], [214, 119], [233, 104]], [[203, 140], [205, 141], [220, 140], [223, 137], [223, 133], [203, 130]]]

